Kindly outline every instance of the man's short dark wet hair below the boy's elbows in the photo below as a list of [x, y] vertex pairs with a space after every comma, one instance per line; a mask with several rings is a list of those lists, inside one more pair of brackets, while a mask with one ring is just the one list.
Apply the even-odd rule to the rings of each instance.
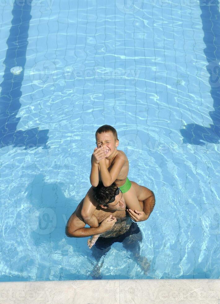
[[99, 203], [99, 205], [108, 206], [107, 203], [115, 195], [117, 185], [115, 182], [112, 185], [105, 187], [102, 182], [99, 182], [97, 187], [93, 187], [94, 199]]

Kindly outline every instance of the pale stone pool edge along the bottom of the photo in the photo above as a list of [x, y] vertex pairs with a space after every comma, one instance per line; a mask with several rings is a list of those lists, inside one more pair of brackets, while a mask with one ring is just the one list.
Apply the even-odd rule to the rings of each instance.
[[1, 304], [218, 304], [220, 279], [1, 282]]

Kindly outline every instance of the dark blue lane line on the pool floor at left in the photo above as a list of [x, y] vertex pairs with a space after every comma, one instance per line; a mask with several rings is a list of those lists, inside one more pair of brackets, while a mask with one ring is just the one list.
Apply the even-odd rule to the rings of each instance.
[[[12, 9], [10, 34], [7, 39], [7, 51], [4, 60], [5, 71], [0, 95], [0, 148], [12, 145], [24, 147], [25, 150], [43, 146], [47, 149], [48, 129], [38, 127], [17, 130], [20, 117], [16, 117], [20, 109], [21, 86], [24, 79], [26, 51], [28, 46], [28, 30], [31, 20], [32, 0], [15, 0]], [[20, 74], [11, 73], [11, 68], [20, 66]]]

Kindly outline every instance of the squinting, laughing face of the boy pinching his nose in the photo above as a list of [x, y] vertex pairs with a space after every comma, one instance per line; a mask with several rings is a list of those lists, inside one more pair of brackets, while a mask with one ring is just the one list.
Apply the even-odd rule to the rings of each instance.
[[115, 151], [118, 144], [119, 141], [115, 141], [115, 138], [111, 132], [97, 134], [96, 136], [97, 148], [100, 148], [101, 145], [103, 145], [106, 157], [109, 157]]

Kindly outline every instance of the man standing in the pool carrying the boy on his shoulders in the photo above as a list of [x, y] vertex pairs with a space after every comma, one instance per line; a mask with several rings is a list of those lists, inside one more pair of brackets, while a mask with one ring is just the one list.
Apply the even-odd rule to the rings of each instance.
[[99, 183], [97, 187], [91, 187], [88, 192], [91, 202], [95, 200], [99, 203], [94, 212], [99, 226], [84, 228], [86, 224], [81, 217], [83, 199], [67, 222], [66, 235], [69, 237], [88, 237], [101, 234], [96, 242], [92, 238], [87, 242], [97, 261], [92, 274], [94, 278], [100, 278], [103, 260], [100, 265], [99, 261], [110, 250], [114, 242], [120, 242], [126, 250], [130, 250], [132, 257], [147, 274], [149, 262], [146, 257], [140, 255], [142, 233], [136, 222], [148, 219], [155, 205], [155, 196], [148, 188], [139, 186], [134, 181], [131, 181], [131, 183], [134, 186], [142, 210], [133, 212], [126, 209], [123, 194], [115, 183], [109, 187], [104, 187], [102, 183]]

